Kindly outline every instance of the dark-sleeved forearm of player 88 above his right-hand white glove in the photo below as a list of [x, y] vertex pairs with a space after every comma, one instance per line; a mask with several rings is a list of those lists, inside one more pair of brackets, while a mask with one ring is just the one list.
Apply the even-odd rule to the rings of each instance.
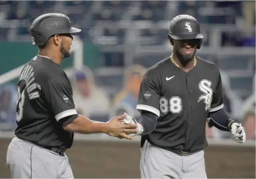
[[230, 126], [235, 120], [231, 119], [225, 109], [220, 109], [209, 114], [208, 126], [215, 126], [219, 130], [230, 131]]

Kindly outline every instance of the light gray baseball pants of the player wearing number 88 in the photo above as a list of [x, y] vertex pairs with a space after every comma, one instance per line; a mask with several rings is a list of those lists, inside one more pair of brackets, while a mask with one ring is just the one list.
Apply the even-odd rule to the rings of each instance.
[[145, 141], [141, 148], [142, 179], [207, 179], [204, 151], [179, 156]]

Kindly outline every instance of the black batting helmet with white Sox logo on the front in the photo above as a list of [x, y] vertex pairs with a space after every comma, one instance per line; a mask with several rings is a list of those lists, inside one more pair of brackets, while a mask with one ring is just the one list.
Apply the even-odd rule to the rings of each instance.
[[199, 39], [197, 49], [202, 45], [203, 35], [200, 26], [193, 16], [179, 15], [172, 19], [169, 27], [169, 38], [176, 40]]

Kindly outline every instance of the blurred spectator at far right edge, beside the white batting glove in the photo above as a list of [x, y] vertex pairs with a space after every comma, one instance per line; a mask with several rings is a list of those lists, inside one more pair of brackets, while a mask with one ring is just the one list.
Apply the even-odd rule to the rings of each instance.
[[255, 108], [248, 110], [243, 118], [242, 126], [245, 127], [247, 140], [255, 140]]

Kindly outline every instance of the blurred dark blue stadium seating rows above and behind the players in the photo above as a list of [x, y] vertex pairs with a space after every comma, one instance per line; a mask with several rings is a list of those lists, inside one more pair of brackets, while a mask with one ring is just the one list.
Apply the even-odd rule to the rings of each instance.
[[[167, 38], [170, 20], [178, 14], [190, 14], [202, 24], [204, 35], [203, 48], [197, 54], [225, 71], [232, 91], [245, 99], [252, 93], [255, 53], [238, 54], [238, 51], [239, 48], [255, 48], [255, 25], [246, 34], [241, 28], [242, 3], [1, 0], [0, 41], [30, 42], [29, 27], [34, 18], [59, 12], [68, 15], [74, 27], [82, 29], [78, 35], [84, 42], [94, 43], [101, 49], [101, 58], [97, 59], [101, 66], [97, 67], [125, 68], [126, 65], [139, 64], [148, 68], [170, 55], [171, 45]], [[217, 50], [217, 46], [229, 49]], [[97, 84], [107, 89], [110, 97], [123, 85], [123, 76], [119, 73], [94, 73]]]

